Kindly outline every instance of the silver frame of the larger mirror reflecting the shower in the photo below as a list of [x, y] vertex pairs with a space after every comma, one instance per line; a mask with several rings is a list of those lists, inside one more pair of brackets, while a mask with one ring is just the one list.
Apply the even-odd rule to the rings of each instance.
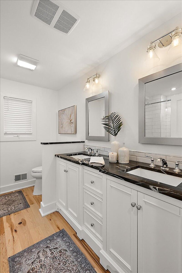
[[182, 145], [181, 137], [145, 137], [145, 84], [182, 71], [182, 63], [138, 80], [138, 143]]

